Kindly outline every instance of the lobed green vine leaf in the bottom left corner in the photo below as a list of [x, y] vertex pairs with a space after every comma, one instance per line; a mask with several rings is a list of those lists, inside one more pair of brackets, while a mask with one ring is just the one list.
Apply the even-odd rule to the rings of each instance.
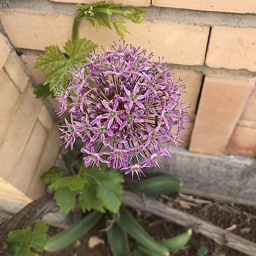
[[42, 252], [47, 244], [48, 230], [44, 221], [39, 220], [34, 229], [28, 226], [25, 229], [13, 230], [9, 233], [7, 243], [9, 245], [7, 254], [9, 256], [37, 256], [38, 253], [31, 252], [34, 248], [38, 252]]

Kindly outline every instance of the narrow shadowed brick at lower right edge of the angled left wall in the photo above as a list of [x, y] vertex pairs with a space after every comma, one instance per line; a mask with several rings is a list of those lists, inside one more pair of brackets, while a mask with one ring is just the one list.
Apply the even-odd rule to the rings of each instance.
[[36, 167], [36, 171], [34, 172], [33, 179], [30, 181], [28, 190], [26, 191], [26, 195], [32, 199], [36, 199], [42, 196], [44, 193], [45, 185], [40, 180], [40, 176], [49, 170], [50, 167], [52, 167], [55, 163], [60, 149], [59, 136], [59, 129], [54, 126], [50, 132], [50, 136], [47, 140], [40, 162]]

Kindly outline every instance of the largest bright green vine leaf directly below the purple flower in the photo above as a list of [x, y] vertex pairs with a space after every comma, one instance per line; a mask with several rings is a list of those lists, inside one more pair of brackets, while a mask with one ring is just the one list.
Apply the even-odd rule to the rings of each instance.
[[121, 205], [123, 176], [117, 171], [103, 171], [96, 168], [91, 170], [86, 167], [82, 167], [80, 173], [91, 186], [95, 186], [100, 203], [110, 212], [117, 212]]

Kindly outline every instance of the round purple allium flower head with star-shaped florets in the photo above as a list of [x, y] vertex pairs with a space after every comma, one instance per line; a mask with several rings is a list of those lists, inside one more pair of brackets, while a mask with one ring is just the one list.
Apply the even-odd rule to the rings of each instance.
[[171, 156], [162, 142], [181, 143], [180, 131], [189, 122], [189, 106], [180, 98], [184, 86], [174, 83], [172, 67], [152, 57], [128, 45], [102, 48], [85, 57], [86, 64], [71, 71], [67, 89], [57, 93], [59, 115], [68, 109], [71, 119], [59, 127], [62, 144], [73, 148], [81, 138], [85, 166], [103, 162], [140, 179], [143, 167]]

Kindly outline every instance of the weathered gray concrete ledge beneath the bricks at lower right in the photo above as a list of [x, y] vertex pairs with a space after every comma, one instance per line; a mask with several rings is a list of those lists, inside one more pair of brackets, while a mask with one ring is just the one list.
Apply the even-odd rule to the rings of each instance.
[[256, 205], [256, 159], [241, 156], [209, 156], [186, 149], [171, 149], [161, 169], [150, 173], [171, 174], [184, 183], [183, 192], [219, 200]]

